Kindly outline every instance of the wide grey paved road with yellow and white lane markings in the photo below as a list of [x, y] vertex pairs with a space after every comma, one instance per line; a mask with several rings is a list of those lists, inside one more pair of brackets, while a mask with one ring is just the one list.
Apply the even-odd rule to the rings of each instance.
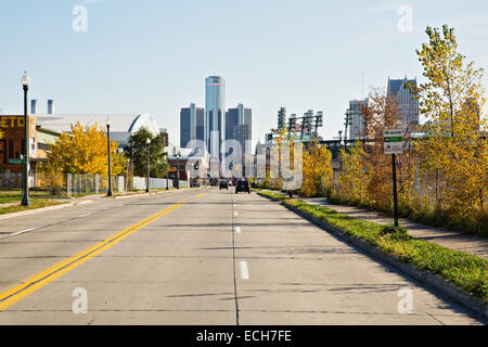
[[[84, 308], [86, 313], [73, 310], [74, 301]], [[399, 291], [411, 293], [410, 313], [398, 309]], [[232, 188], [0, 220], [0, 324], [479, 323], [277, 203]]]

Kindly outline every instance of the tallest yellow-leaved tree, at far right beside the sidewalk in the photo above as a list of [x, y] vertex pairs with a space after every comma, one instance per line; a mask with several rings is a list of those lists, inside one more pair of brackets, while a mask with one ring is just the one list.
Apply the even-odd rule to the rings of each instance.
[[[427, 118], [425, 137], [415, 142], [423, 178], [435, 178], [436, 205], [454, 220], [485, 213], [488, 194], [483, 68], [458, 52], [454, 29], [427, 27], [428, 42], [416, 50], [427, 79], [416, 93]], [[442, 189], [441, 191], [439, 191]]]

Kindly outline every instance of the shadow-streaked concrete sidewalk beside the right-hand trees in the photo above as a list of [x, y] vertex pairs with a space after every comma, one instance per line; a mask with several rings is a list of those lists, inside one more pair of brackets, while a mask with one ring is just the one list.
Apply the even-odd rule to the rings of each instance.
[[[279, 193], [278, 191], [272, 192]], [[347, 205], [332, 205], [325, 197], [296, 197], [308, 204], [326, 206], [328, 208], [334, 209], [352, 218], [372, 221], [380, 224], [389, 224], [393, 222], [391, 217], [382, 215], [375, 210], [368, 210], [365, 208]], [[409, 235], [415, 239], [425, 240], [427, 242], [432, 242], [447, 248], [463, 250], [480, 258], [488, 259], [487, 239], [461, 233], [458, 231], [445, 230], [441, 228], [416, 223], [406, 218], [400, 218], [399, 223], [407, 229]]]

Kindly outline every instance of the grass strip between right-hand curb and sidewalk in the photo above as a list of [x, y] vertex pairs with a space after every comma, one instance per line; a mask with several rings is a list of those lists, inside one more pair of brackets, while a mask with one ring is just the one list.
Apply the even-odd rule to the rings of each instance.
[[488, 303], [488, 261], [480, 257], [413, 239], [403, 228], [396, 229], [351, 218], [324, 206], [287, 200], [272, 192], [259, 194], [284, 201], [285, 204], [341, 229], [345, 234], [361, 239], [421, 270], [431, 271]]

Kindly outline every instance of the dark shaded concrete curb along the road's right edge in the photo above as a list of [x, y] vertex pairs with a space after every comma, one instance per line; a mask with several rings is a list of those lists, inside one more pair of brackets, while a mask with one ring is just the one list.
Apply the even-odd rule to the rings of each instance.
[[[259, 193], [258, 193], [259, 194]], [[346, 234], [343, 230], [333, 227], [323, 220], [316, 218], [307, 213], [304, 213], [303, 210], [287, 205], [284, 202], [280, 202], [277, 198], [268, 197], [265, 195], [259, 194], [260, 196], [267, 197], [271, 201], [279, 202], [280, 205], [286, 207], [291, 211], [294, 211], [295, 214], [299, 215], [300, 217], [307, 219], [308, 221], [312, 222], [313, 224], [320, 227], [321, 229], [336, 235], [338, 239], [342, 239], [343, 241], [346, 241], [350, 244], [354, 244], [368, 255], [372, 256], [372, 258], [375, 258], [377, 260], [382, 260], [386, 262], [387, 265], [391, 266], [393, 268], [408, 274], [412, 279], [416, 280], [424, 286], [432, 288], [433, 291], [441, 294], [446, 298], [449, 298], [453, 300], [457, 304], [460, 304], [467, 310], [470, 310], [474, 316], [481, 318], [486, 321], [488, 320], [488, 305], [485, 304], [481, 299], [475, 297], [474, 295], [467, 293], [466, 291], [460, 288], [455, 284], [452, 284], [448, 282], [447, 280], [442, 279], [441, 277], [432, 273], [427, 270], [420, 270], [416, 266], [413, 264], [407, 264], [401, 261], [397, 256], [386, 254], [381, 252], [377, 247], [367, 243], [365, 241], [358, 239], [354, 235]]]

